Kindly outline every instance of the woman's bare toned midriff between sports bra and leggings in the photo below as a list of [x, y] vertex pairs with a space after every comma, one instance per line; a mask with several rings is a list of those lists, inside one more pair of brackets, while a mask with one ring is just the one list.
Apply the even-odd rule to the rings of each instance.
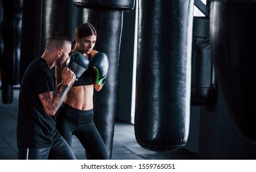
[[71, 87], [65, 96], [64, 102], [83, 111], [93, 109], [93, 91], [93, 84]]

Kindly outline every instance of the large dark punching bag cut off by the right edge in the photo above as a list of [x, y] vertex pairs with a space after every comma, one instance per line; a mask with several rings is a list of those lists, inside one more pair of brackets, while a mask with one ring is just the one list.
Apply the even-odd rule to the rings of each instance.
[[238, 130], [256, 143], [256, 2], [212, 1], [210, 40], [218, 85]]

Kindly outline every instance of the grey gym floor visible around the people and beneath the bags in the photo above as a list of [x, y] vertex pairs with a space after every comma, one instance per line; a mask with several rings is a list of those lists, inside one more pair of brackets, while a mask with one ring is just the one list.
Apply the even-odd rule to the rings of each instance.
[[[0, 159], [17, 160], [16, 123], [19, 88], [14, 90], [11, 104], [2, 103], [0, 88]], [[85, 151], [78, 139], [73, 139], [73, 152], [79, 160], [86, 159]], [[115, 122], [112, 160], [195, 160], [197, 154], [180, 149], [175, 152], [153, 152], [142, 148], [136, 142], [134, 126], [122, 121]]]

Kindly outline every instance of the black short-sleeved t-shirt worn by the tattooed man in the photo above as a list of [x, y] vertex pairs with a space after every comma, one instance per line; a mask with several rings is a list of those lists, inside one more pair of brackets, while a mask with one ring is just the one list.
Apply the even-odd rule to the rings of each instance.
[[49, 147], [57, 137], [56, 119], [47, 115], [39, 94], [56, 95], [55, 75], [43, 58], [36, 57], [28, 66], [20, 84], [17, 121], [19, 149]]

